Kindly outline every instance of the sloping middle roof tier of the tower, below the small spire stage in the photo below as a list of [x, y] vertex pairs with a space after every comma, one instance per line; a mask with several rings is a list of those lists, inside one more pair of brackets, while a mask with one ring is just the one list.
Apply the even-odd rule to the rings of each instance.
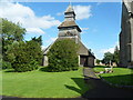
[[64, 27], [76, 27], [78, 30], [81, 32], [81, 29], [79, 28], [79, 26], [75, 23], [75, 21], [63, 21], [58, 29], [64, 28]]

